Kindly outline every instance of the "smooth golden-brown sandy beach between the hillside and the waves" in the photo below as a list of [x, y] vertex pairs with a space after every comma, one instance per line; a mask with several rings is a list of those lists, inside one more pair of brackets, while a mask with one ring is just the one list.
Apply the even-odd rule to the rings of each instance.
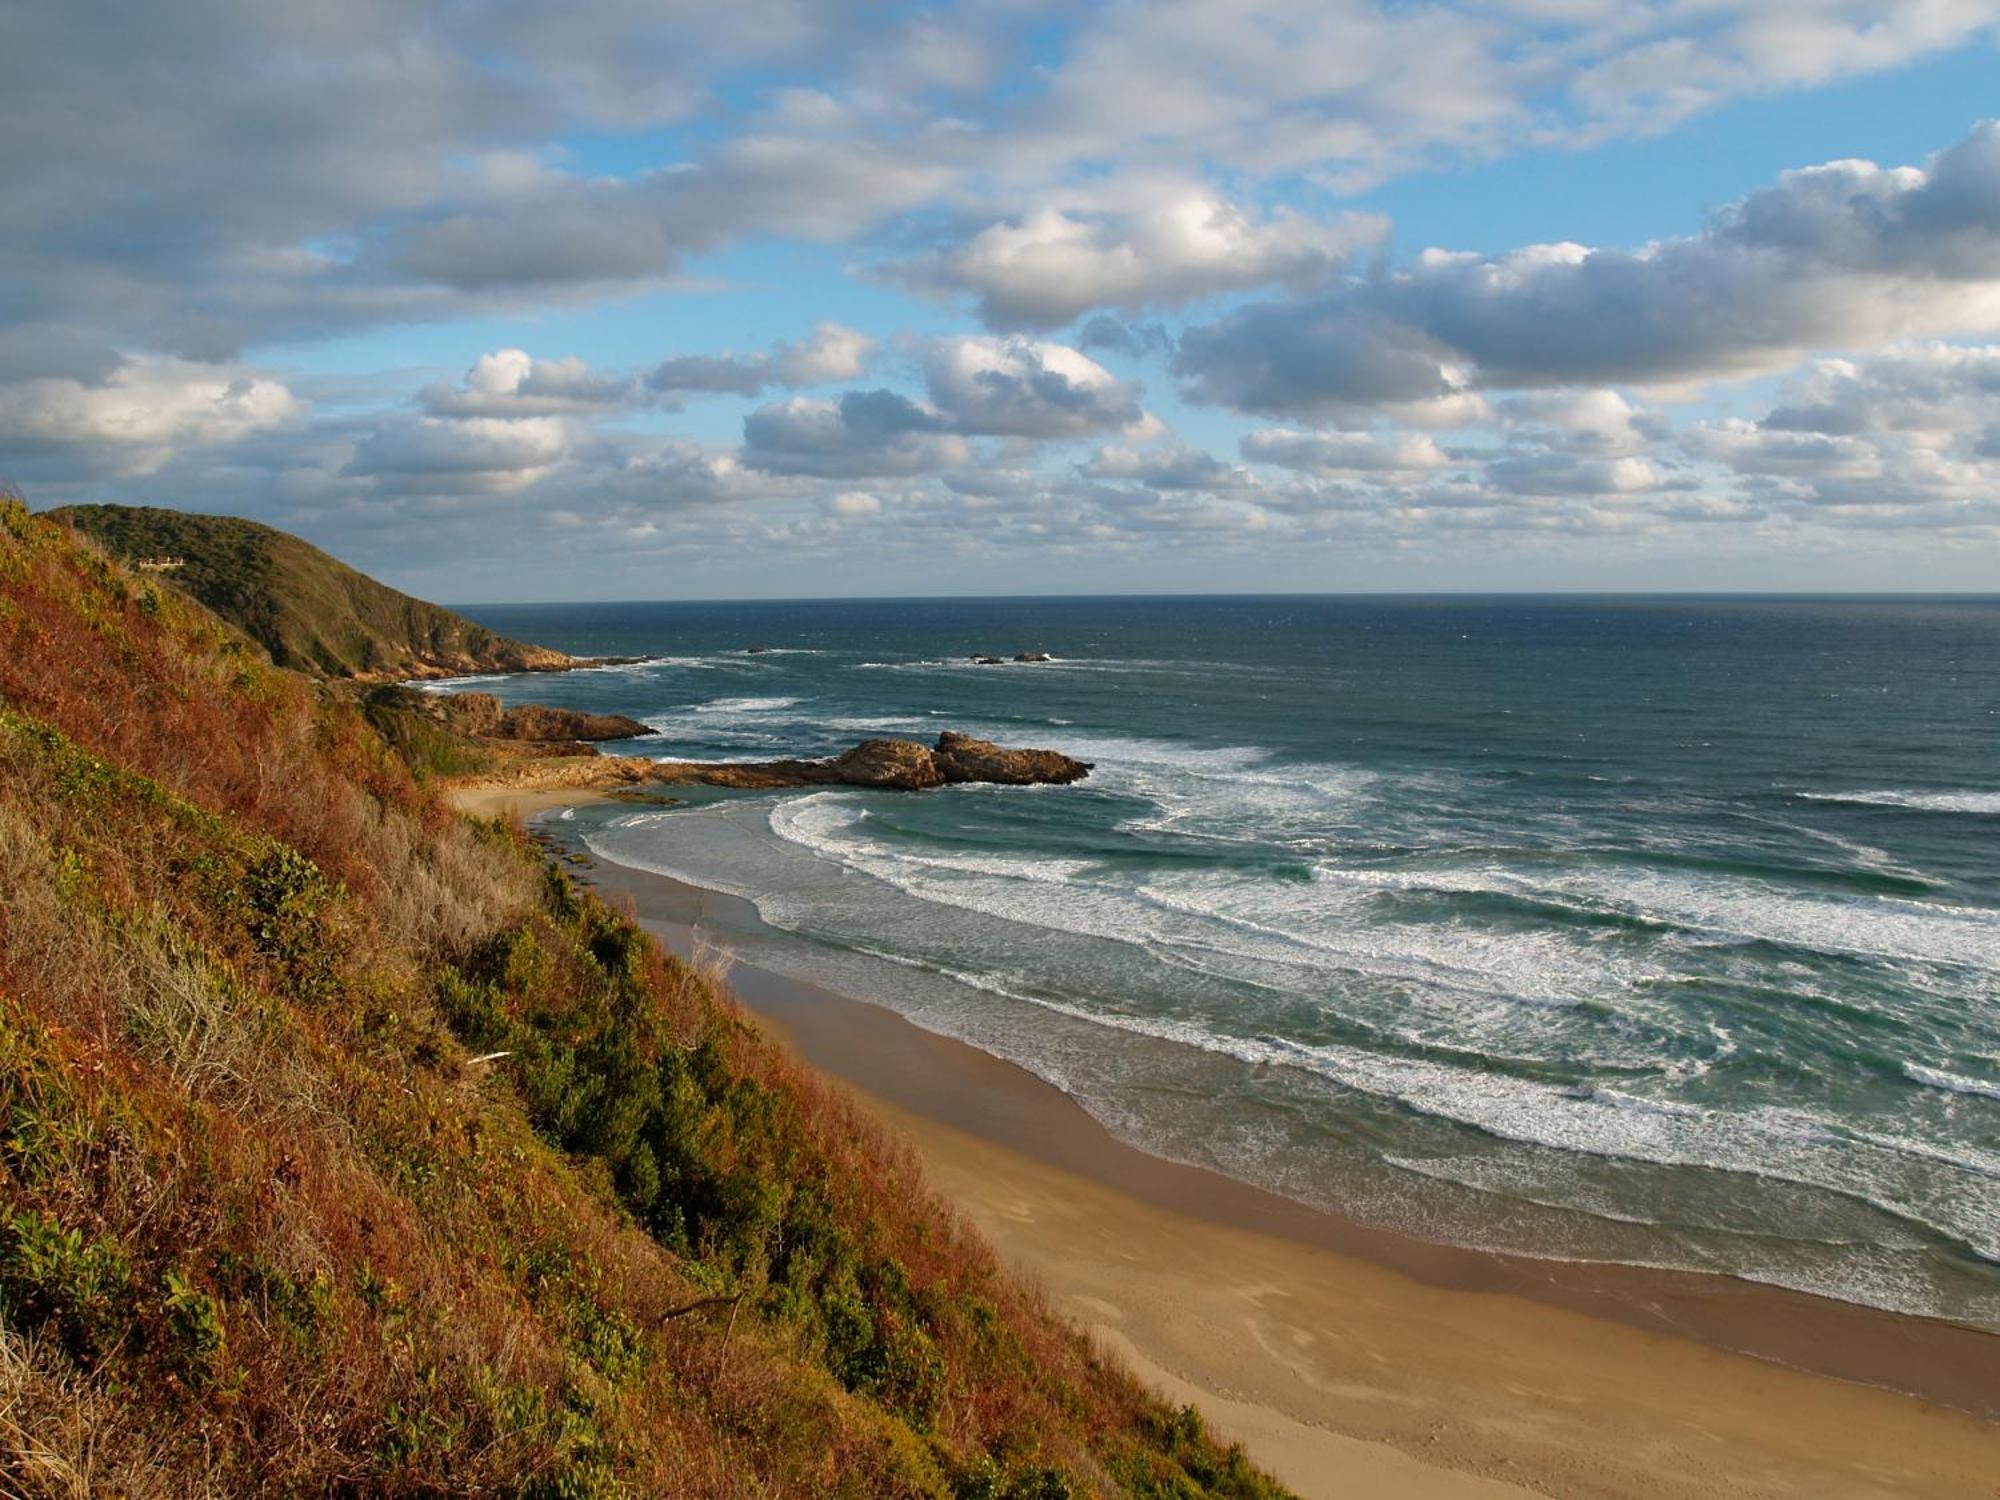
[[[682, 952], [732, 902], [604, 862], [590, 880]], [[2000, 1494], [2000, 1338], [1378, 1234], [1138, 1152], [880, 1006], [748, 964], [732, 984], [1060, 1310], [1302, 1496]]]

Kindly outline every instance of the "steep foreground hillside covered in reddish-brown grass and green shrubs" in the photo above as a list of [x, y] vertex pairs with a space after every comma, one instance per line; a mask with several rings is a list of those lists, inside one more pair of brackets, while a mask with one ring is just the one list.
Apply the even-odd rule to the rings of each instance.
[[1276, 1494], [712, 976], [12, 502], [0, 1492]]

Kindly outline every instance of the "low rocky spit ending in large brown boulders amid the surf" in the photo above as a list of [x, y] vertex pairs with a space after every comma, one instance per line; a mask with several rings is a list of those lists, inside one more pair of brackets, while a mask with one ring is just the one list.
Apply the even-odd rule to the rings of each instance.
[[1090, 774], [1090, 762], [1058, 750], [1020, 750], [946, 730], [934, 746], [916, 740], [862, 740], [826, 760], [646, 760], [644, 756], [558, 756], [502, 764], [490, 786], [520, 790], [614, 786], [730, 786], [768, 792], [792, 786], [878, 786], [920, 792], [960, 782], [1066, 786]]

